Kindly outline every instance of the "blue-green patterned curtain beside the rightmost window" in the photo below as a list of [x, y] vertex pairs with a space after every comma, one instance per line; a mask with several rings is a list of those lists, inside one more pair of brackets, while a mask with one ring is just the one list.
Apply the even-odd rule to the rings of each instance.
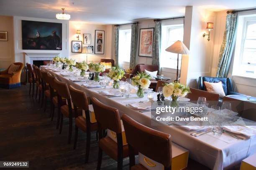
[[217, 77], [227, 77], [233, 49], [236, 41], [237, 13], [227, 15], [226, 29], [220, 48], [220, 56], [217, 68]]

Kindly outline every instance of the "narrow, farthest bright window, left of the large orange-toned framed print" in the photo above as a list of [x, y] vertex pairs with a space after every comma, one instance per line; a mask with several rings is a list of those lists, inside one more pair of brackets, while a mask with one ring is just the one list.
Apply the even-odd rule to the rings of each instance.
[[130, 62], [131, 52], [131, 29], [119, 30], [118, 42], [118, 62], [123, 65], [123, 62]]

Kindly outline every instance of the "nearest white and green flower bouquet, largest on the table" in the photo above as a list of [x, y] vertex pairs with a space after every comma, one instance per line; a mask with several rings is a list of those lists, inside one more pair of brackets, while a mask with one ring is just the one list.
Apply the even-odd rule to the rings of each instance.
[[184, 97], [188, 93], [191, 93], [189, 87], [180, 83], [169, 83], [166, 84], [163, 88], [164, 97], [172, 97], [172, 106], [177, 106], [177, 101], [179, 100], [179, 97]]

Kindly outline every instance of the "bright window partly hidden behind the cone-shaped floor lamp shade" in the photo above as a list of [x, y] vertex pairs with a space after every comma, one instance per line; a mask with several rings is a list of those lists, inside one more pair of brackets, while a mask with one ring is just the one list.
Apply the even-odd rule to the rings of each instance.
[[[178, 40], [183, 41], [183, 24], [162, 26], [161, 39], [161, 67], [176, 69], [177, 54], [165, 51], [165, 49]], [[179, 68], [180, 64], [181, 56], [179, 56]]]

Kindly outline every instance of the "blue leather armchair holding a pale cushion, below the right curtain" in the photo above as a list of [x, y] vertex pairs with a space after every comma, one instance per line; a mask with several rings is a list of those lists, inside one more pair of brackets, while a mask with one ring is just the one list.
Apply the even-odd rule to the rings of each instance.
[[198, 81], [198, 89], [200, 90], [204, 90], [205, 86], [204, 86], [204, 81], [210, 82], [210, 83], [218, 83], [218, 82], [222, 82], [222, 86], [223, 86], [223, 90], [225, 92], [225, 95], [232, 95], [232, 94], [237, 94], [237, 95], [241, 95], [240, 93], [237, 93], [234, 91], [233, 85], [232, 85], [232, 81], [230, 78], [224, 78], [224, 77], [199, 77], [199, 81]]

